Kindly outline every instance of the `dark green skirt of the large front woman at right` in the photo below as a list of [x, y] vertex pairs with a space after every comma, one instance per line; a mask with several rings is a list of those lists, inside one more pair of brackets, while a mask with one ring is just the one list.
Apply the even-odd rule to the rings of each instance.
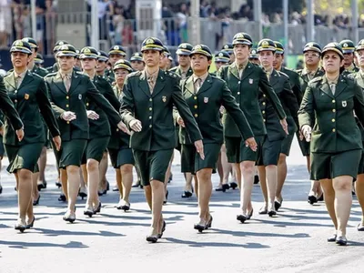
[[335, 177], [350, 176], [354, 181], [358, 176], [359, 161], [362, 149], [349, 150], [339, 153], [311, 153], [312, 180], [333, 179]]

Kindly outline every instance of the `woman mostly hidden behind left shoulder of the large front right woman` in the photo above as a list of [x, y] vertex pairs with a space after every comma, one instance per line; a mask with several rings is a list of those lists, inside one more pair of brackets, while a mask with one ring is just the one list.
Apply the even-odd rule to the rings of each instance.
[[[317, 76], [323, 76], [324, 72], [319, 67], [319, 60], [321, 56], [321, 46], [318, 43], [310, 42], [303, 48], [303, 57], [305, 62], [305, 68], [297, 71], [299, 76], [299, 82], [303, 94], [308, 86], [308, 82]], [[300, 138], [300, 136], [298, 136]], [[298, 141], [302, 155], [306, 157], [308, 172], [310, 172], [310, 160], [309, 160], [309, 143], [306, 139]], [[311, 181], [311, 189], [308, 193], [308, 203], [313, 205], [318, 202], [322, 196], [322, 190], [319, 186], [319, 181]]]

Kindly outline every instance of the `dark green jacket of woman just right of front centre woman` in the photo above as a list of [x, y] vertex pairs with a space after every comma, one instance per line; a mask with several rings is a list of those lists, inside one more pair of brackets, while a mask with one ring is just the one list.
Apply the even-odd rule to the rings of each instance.
[[[227, 88], [227, 83], [223, 80], [208, 75], [195, 94], [193, 77], [190, 76], [181, 81], [181, 88], [187, 105], [195, 116], [204, 143], [224, 143], [223, 126], [220, 122], [220, 106], [224, 106], [227, 113], [233, 118], [244, 140], [254, 136], [247, 118]], [[186, 128], [181, 127], [179, 138], [181, 144], [191, 144]]]

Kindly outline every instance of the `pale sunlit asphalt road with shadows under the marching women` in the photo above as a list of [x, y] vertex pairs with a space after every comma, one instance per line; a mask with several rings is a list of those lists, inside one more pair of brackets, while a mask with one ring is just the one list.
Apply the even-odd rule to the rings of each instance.
[[[364, 232], [358, 201], [349, 219], [348, 247], [326, 239], [333, 227], [325, 205], [310, 206], [305, 158], [295, 142], [288, 159], [288, 177], [283, 207], [277, 217], [258, 215], [262, 205], [259, 186], [254, 187], [255, 213], [248, 224], [236, 220], [238, 190], [213, 192], [212, 227], [199, 234], [197, 199], [181, 198], [184, 178], [178, 155], [174, 179], [168, 185], [164, 207], [167, 229], [157, 244], [146, 241], [150, 225], [142, 189], [133, 189], [131, 210], [116, 209], [117, 194], [101, 197], [103, 207], [96, 217], [85, 217], [85, 200], [77, 201], [74, 224], [62, 220], [66, 204], [57, 201], [56, 168], [49, 153], [48, 187], [35, 207], [35, 227], [20, 234], [14, 229], [17, 215], [15, 179], [2, 170], [4, 192], [0, 196], [0, 272], [364, 272]], [[3, 160], [6, 166], [6, 159]], [[115, 185], [114, 170], [107, 177]], [[214, 185], [218, 177], [214, 175]]]

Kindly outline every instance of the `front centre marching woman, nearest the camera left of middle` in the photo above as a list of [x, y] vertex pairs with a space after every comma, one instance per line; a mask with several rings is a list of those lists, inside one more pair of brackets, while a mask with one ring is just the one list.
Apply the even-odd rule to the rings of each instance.
[[[197, 123], [182, 97], [179, 79], [173, 73], [159, 69], [162, 42], [154, 37], [142, 44], [146, 69], [126, 77], [121, 102], [121, 116], [133, 130], [130, 147], [136, 167], [152, 210], [151, 232], [147, 241], [157, 242], [166, 228], [162, 207], [165, 197], [164, 181], [167, 167], [176, 147], [173, 107], [183, 118], [187, 133], [195, 143], [197, 153], [204, 158], [202, 136]], [[146, 111], [147, 109], [147, 111]]]

